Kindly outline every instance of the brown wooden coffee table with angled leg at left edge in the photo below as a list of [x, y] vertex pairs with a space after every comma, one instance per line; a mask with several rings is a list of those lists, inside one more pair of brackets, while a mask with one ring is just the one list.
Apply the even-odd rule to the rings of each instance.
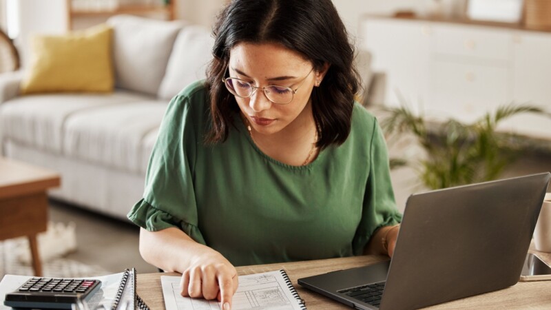
[[35, 276], [42, 276], [37, 234], [46, 231], [46, 190], [61, 184], [48, 169], [0, 157], [0, 240], [27, 236]]

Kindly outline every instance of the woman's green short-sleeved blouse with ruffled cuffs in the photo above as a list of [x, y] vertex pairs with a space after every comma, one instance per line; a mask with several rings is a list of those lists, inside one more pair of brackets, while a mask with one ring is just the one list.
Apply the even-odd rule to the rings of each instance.
[[239, 266], [360, 255], [373, 231], [402, 219], [384, 137], [361, 105], [347, 140], [302, 167], [263, 154], [240, 121], [205, 145], [209, 119], [204, 83], [172, 99], [128, 214], [136, 225], [178, 227]]

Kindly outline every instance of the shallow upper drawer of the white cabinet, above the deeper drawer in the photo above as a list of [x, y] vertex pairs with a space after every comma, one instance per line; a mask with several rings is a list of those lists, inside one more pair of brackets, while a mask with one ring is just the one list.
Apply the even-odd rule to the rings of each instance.
[[439, 25], [434, 30], [435, 52], [495, 61], [510, 61], [512, 35], [497, 29]]

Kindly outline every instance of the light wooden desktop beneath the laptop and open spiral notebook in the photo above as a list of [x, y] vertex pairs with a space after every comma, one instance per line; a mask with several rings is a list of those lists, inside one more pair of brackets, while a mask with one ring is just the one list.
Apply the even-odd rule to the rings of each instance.
[[[551, 254], [538, 253], [546, 262], [551, 262]], [[250, 273], [285, 269], [300, 297], [306, 301], [308, 309], [351, 309], [326, 298], [318, 293], [303, 289], [297, 284], [298, 278], [313, 276], [339, 269], [361, 267], [386, 260], [384, 256], [355, 256], [330, 260], [311, 260], [306, 262], [287, 262], [282, 264], [237, 267], [240, 276]], [[151, 309], [165, 309], [160, 276], [179, 276], [179, 273], [138, 274], [138, 294]], [[519, 282], [517, 285], [482, 294], [438, 304], [426, 309], [550, 309], [551, 281]]]

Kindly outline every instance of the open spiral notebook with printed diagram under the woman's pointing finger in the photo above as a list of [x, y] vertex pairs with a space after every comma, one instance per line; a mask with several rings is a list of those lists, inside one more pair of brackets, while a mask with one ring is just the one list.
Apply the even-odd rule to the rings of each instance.
[[[220, 302], [216, 300], [181, 296], [179, 276], [161, 276], [160, 283], [163, 286], [167, 310], [222, 309]], [[276, 270], [239, 276], [239, 287], [233, 295], [231, 309], [302, 310], [306, 309], [306, 305], [293, 287], [287, 273], [284, 270]]]

